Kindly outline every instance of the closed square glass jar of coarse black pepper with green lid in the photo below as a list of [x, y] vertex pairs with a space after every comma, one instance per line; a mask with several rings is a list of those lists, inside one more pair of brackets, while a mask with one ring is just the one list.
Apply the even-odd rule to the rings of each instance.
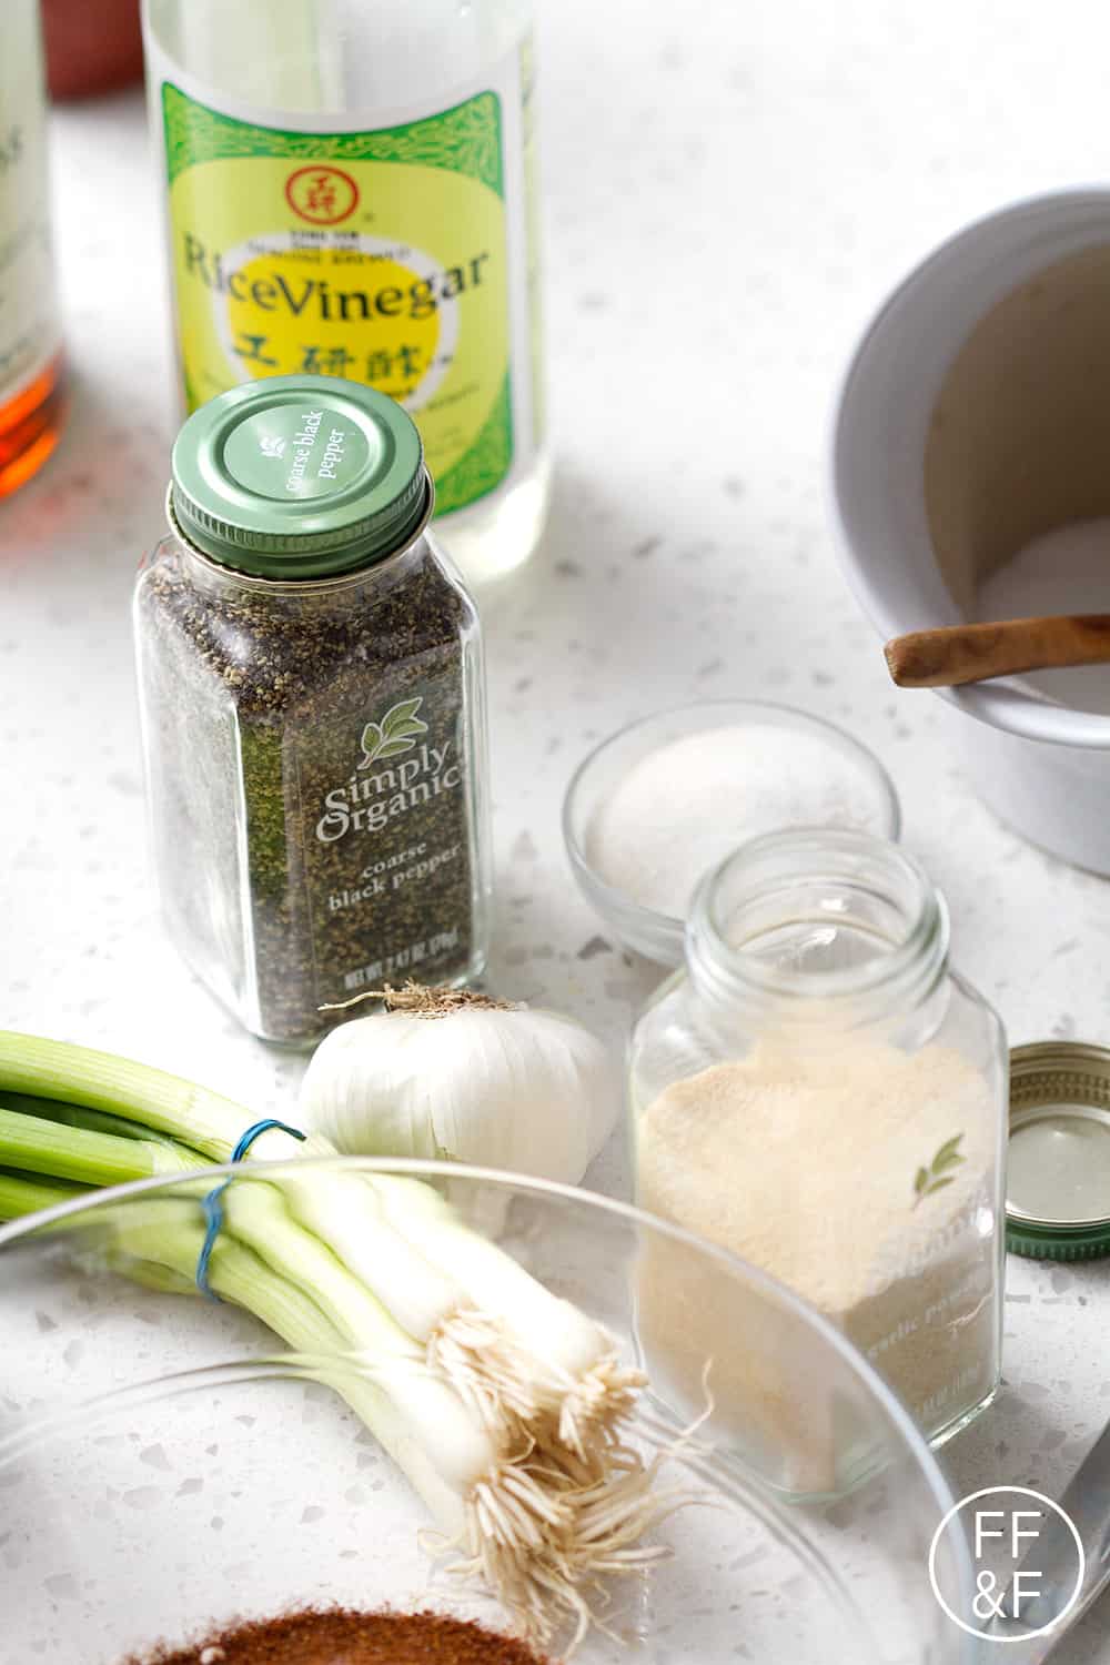
[[135, 598], [158, 887], [266, 1041], [484, 966], [481, 636], [431, 508], [411, 418], [334, 378], [233, 388], [173, 448]]

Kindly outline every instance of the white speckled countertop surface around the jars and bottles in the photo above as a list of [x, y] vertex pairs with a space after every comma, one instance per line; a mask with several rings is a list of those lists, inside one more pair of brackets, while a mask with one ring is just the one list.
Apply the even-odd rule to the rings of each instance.
[[[546, 10], [557, 486], [544, 551], [488, 619], [494, 986], [619, 1042], [657, 972], [572, 887], [567, 776], [651, 708], [762, 694], [884, 759], [955, 962], [1013, 1042], [1110, 1041], [1110, 884], [979, 806], [940, 703], [890, 689], [822, 513], [854, 331], [972, 215], [1097, 170], [1110, 25], [994, 0]], [[0, 508], [0, 1021], [286, 1102], [300, 1066], [181, 969], [145, 869], [128, 594], [160, 533], [170, 393], [141, 98], [68, 108], [55, 137], [77, 398], [58, 456]], [[617, 1144], [591, 1179], [624, 1189]], [[1110, 1262], [1010, 1259], [1007, 1300], [1005, 1390], [944, 1462], [959, 1492], [1058, 1492], [1110, 1415]], [[1107, 1637], [1110, 1610], [1068, 1660]]]

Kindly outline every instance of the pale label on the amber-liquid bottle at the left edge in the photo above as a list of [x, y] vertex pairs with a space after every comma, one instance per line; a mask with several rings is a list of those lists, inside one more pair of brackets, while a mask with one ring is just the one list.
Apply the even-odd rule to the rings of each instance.
[[0, 43], [0, 405], [57, 350], [38, 7], [17, 5]]

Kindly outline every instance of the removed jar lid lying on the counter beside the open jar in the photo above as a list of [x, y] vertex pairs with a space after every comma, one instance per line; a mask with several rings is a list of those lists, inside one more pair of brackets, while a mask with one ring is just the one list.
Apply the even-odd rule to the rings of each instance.
[[1005, 1240], [1038, 1260], [1110, 1255], [1110, 1051], [1078, 1041], [1010, 1054]]

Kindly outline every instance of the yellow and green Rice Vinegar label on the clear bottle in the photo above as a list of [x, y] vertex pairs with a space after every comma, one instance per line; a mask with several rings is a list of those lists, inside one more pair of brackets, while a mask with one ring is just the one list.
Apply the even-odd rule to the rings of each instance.
[[366, 381], [414, 418], [439, 513], [516, 448], [503, 108], [281, 132], [161, 87], [190, 410], [256, 376]]

